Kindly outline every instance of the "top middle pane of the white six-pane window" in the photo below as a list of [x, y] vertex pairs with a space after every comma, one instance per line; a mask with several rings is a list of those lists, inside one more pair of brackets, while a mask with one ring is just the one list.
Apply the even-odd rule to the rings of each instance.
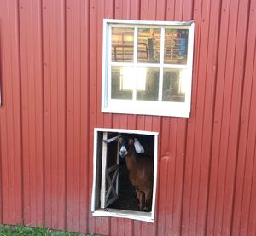
[[138, 29], [137, 61], [160, 62], [160, 29]]

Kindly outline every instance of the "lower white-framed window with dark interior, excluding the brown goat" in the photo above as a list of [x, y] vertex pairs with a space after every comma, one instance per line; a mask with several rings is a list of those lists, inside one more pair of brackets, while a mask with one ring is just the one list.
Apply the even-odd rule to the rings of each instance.
[[[127, 158], [119, 155], [121, 145], [115, 137], [129, 135], [143, 146], [140, 158], [147, 158], [153, 165], [152, 198], [148, 210], [139, 210], [137, 191], [131, 184]], [[105, 140], [113, 140], [105, 143]], [[96, 128], [94, 131], [93, 190], [91, 211], [93, 216], [112, 216], [154, 222], [158, 133], [140, 130], [116, 130]], [[137, 164], [140, 163], [137, 159]], [[143, 170], [145, 170], [143, 162]], [[130, 168], [130, 167], [129, 167]], [[134, 169], [132, 169], [134, 170]], [[143, 203], [145, 203], [143, 193]]]

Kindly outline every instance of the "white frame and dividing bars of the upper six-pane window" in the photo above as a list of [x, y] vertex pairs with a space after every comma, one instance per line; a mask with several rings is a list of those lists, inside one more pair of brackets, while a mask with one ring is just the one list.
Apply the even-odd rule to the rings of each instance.
[[[161, 57], [160, 63], [153, 66], [153, 63], [138, 63], [137, 49], [135, 45], [134, 62], [124, 62], [127, 66], [143, 66], [143, 67], [157, 67], [160, 68], [160, 83], [159, 89], [162, 90], [163, 83], [163, 68], [184, 68], [187, 71], [186, 85], [185, 85], [185, 101], [138, 101], [138, 100], [123, 100], [111, 99], [111, 69], [110, 66], [122, 66], [121, 62], [111, 61], [111, 27], [135, 27], [134, 42], [137, 44], [137, 28], [138, 27], [161, 27]], [[189, 29], [188, 40], [188, 55], [187, 65], [179, 64], [164, 64], [164, 28]], [[103, 20], [103, 51], [102, 51], [102, 112], [110, 113], [125, 113], [125, 114], [144, 114], [157, 116], [172, 116], [189, 118], [190, 103], [191, 103], [191, 86], [192, 86], [192, 69], [193, 69], [193, 47], [194, 47], [194, 21], [148, 21], [148, 20]], [[161, 93], [161, 91], [160, 91]], [[160, 94], [161, 97], [161, 94]], [[148, 109], [148, 107], [150, 109]]]

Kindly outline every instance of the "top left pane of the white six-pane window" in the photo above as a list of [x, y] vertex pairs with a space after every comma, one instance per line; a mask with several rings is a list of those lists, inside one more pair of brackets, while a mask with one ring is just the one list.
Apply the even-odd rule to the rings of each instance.
[[133, 28], [112, 28], [112, 61], [133, 61]]

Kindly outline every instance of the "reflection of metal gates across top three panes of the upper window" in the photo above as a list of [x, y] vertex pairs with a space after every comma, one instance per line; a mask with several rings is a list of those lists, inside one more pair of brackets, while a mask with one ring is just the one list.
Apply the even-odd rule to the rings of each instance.
[[[160, 28], [138, 29], [137, 62], [160, 62]], [[134, 62], [134, 29], [112, 28], [112, 60]], [[188, 30], [166, 29], [165, 64], [185, 64], [187, 60]]]

